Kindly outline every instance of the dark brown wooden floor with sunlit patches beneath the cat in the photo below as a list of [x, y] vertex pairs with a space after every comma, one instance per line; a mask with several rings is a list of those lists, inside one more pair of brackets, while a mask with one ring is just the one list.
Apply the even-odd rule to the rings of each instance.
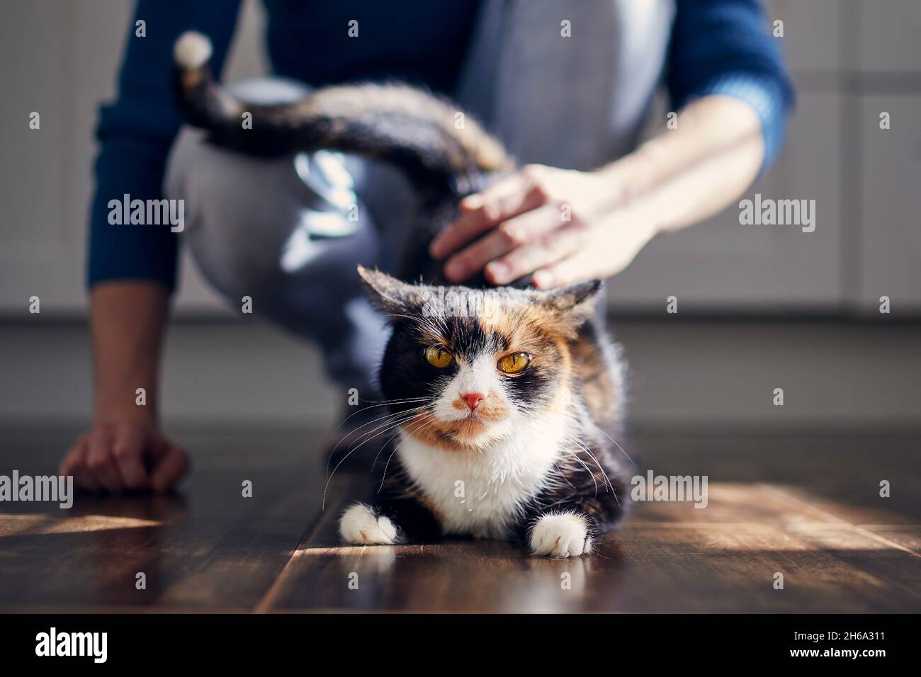
[[[0, 433], [0, 474], [52, 473], [71, 437]], [[921, 434], [639, 436], [655, 473], [708, 475], [709, 506], [636, 504], [567, 561], [472, 541], [341, 547], [335, 518], [361, 480], [335, 480], [321, 511], [321, 436], [177, 437], [195, 462], [177, 496], [0, 503], [0, 611], [921, 611]]]

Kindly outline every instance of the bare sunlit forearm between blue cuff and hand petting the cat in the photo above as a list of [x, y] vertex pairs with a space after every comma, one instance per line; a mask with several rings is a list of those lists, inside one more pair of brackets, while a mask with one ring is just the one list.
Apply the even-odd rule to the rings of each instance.
[[764, 160], [758, 116], [725, 96], [696, 99], [634, 153], [600, 169], [612, 206], [655, 232], [686, 228], [717, 214], [757, 177]]

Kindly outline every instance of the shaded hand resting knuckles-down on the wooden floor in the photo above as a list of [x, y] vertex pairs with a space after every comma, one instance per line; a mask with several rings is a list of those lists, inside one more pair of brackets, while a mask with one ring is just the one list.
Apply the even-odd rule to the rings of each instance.
[[147, 422], [101, 423], [77, 438], [59, 473], [73, 475], [87, 491], [121, 494], [128, 489], [163, 492], [189, 470], [189, 457]]

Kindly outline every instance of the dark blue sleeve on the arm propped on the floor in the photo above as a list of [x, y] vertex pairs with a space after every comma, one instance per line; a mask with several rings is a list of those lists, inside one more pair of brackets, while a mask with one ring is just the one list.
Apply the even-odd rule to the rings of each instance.
[[[199, 30], [214, 44], [216, 76], [237, 23], [239, 0], [139, 0], [129, 27], [118, 95], [99, 108], [96, 192], [90, 206], [87, 284], [140, 279], [176, 285], [178, 233], [169, 226], [111, 225], [110, 200], [162, 198], [169, 146], [181, 126], [173, 105], [172, 45]], [[136, 34], [137, 21], [146, 35]]]

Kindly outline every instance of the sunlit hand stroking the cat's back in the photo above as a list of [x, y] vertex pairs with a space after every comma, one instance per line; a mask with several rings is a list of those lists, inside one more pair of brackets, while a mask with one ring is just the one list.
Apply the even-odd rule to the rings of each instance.
[[617, 274], [656, 233], [621, 193], [607, 172], [528, 165], [464, 198], [429, 252], [447, 258], [451, 282], [482, 270], [507, 285], [533, 273], [534, 286], [550, 288]]

